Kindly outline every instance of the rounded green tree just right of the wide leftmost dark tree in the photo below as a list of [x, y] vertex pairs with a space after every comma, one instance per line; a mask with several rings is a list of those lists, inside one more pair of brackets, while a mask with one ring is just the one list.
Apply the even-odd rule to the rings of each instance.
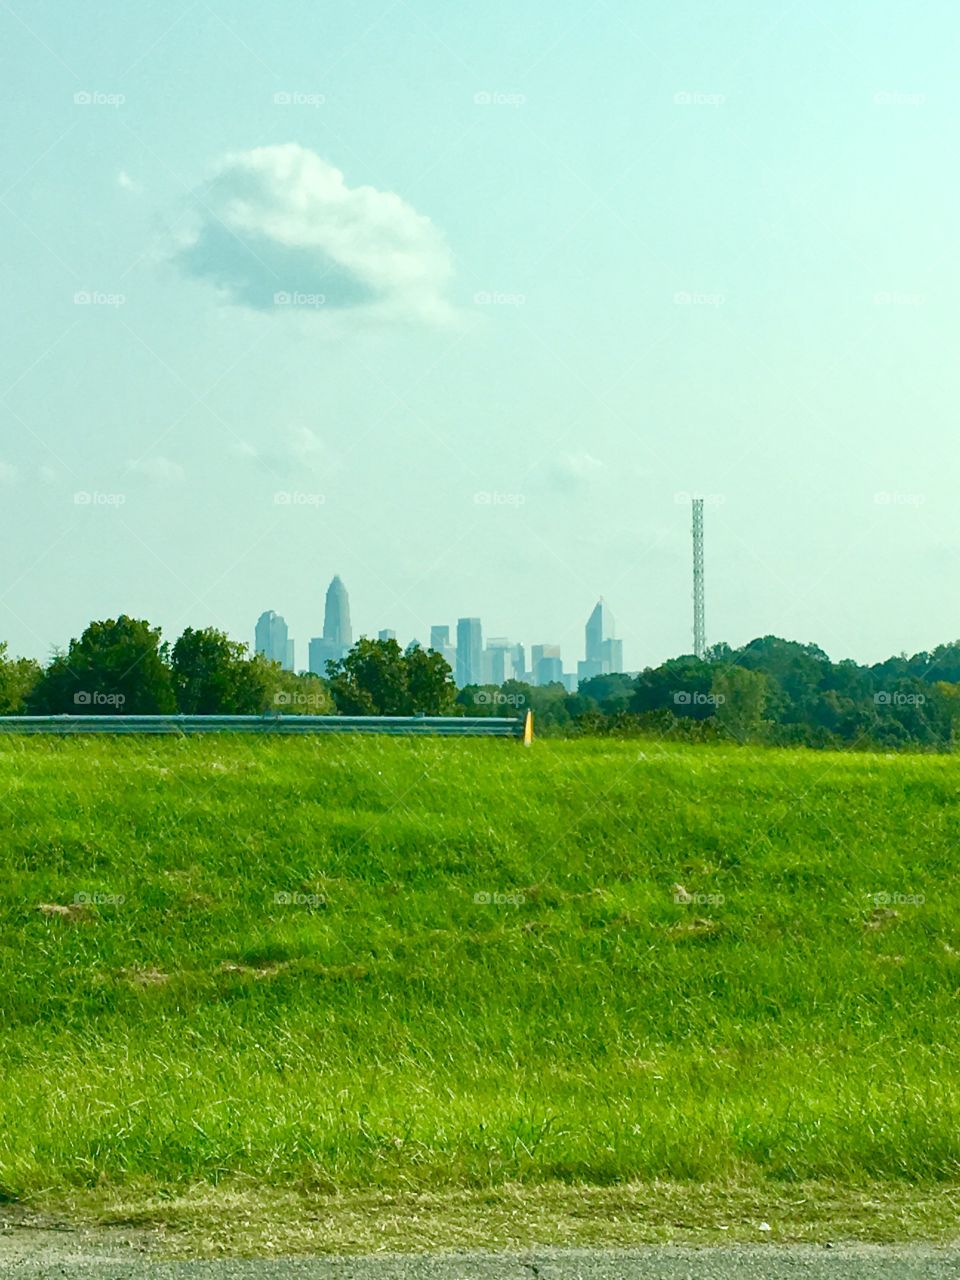
[[269, 709], [273, 666], [215, 627], [187, 627], [170, 654], [177, 705], [184, 716], [259, 716]]

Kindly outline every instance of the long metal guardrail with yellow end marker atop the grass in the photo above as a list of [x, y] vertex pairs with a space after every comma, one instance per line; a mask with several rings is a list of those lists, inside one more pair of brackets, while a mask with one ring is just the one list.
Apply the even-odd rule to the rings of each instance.
[[530, 745], [534, 718], [502, 716], [0, 716], [1, 733], [393, 733], [515, 737]]

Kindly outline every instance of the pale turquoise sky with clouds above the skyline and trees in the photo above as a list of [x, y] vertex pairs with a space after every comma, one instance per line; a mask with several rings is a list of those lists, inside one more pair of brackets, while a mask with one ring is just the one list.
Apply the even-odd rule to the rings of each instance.
[[960, 636], [960, 10], [0, 0], [0, 639]]

